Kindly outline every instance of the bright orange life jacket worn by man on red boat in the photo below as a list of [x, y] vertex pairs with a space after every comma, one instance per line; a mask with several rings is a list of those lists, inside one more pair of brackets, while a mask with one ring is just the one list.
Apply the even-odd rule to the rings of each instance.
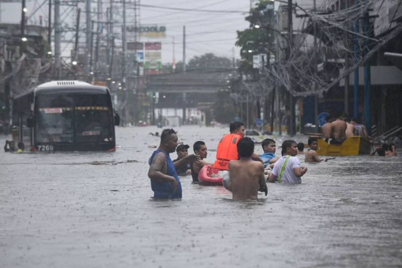
[[214, 168], [228, 170], [229, 161], [239, 159], [237, 143], [241, 138], [238, 134], [226, 134], [219, 140]]

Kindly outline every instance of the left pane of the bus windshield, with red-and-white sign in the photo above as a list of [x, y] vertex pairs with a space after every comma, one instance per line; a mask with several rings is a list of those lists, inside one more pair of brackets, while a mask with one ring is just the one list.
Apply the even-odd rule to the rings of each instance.
[[38, 96], [36, 140], [74, 142], [73, 99], [67, 95]]

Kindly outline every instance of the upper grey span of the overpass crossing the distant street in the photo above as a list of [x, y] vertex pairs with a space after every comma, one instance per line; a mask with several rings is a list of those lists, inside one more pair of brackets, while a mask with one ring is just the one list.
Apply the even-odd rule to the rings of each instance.
[[216, 93], [226, 89], [233, 69], [189, 70], [148, 76], [146, 91], [159, 93]]

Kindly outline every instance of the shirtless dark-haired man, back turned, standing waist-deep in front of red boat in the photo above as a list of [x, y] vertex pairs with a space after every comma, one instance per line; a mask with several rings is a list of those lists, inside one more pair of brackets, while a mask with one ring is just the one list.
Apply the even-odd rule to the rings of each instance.
[[264, 176], [264, 165], [252, 161], [254, 142], [250, 138], [242, 138], [237, 143], [240, 160], [229, 162], [230, 183], [228, 190], [233, 200], [257, 199], [258, 191], [267, 195], [267, 183]]

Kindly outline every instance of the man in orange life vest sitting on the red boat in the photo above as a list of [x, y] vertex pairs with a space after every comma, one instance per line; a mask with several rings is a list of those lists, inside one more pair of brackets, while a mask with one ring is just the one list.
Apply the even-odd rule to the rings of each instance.
[[[216, 169], [228, 170], [229, 161], [238, 160], [237, 143], [244, 136], [244, 124], [242, 122], [232, 122], [229, 126], [230, 134], [223, 136], [218, 143], [216, 151], [216, 160], [213, 167]], [[252, 160], [262, 160], [258, 155], [253, 154]]]

